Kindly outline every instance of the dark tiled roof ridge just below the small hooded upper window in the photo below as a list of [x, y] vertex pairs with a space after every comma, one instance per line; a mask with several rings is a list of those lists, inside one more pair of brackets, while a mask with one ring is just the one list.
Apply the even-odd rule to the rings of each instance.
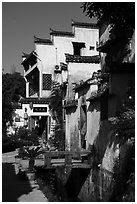
[[78, 55], [70, 55], [65, 54], [66, 56], [66, 62], [76, 62], [76, 63], [100, 63], [100, 56], [94, 55], [94, 56], [78, 56]]

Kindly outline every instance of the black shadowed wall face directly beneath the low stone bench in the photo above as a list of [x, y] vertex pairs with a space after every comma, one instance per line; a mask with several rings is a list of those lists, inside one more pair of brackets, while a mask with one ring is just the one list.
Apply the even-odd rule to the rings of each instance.
[[78, 194], [90, 169], [62, 166], [56, 169], [56, 190], [62, 202], [78, 202]]

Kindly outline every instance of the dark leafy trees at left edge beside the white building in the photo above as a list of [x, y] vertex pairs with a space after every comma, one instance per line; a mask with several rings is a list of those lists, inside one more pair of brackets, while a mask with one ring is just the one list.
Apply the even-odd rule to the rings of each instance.
[[[6, 123], [12, 124], [13, 105], [20, 96], [25, 96], [25, 80], [20, 73], [2, 75], [2, 132], [6, 134]], [[3, 136], [4, 136], [3, 135]]]

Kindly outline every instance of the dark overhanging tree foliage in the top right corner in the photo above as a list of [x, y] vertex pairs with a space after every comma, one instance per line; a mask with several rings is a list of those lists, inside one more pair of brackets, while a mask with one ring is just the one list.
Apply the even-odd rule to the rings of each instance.
[[82, 3], [83, 12], [97, 21], [107, 21], [112, 25], [113, 31], [126, 31], [129, 37], [135, 28], [134, 2], [86, 2]]

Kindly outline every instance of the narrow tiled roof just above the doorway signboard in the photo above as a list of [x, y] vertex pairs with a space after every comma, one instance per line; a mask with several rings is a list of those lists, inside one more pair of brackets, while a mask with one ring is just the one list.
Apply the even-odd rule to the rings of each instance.
[[20, 103], [30, 103], [30, 102], [35, 104], [38, 104], [38, 103], [48, 104], [49, 98], [21, 98], [20, 99]]

